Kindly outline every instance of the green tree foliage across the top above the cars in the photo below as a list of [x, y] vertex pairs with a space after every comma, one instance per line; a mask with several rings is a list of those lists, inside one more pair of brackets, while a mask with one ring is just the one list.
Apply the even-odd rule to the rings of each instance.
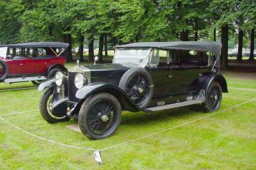
[[226, 25], [247, 37], [256, 21], [253, 0], [1, 0], [0, 9], [1, 43], [192, 41]]

